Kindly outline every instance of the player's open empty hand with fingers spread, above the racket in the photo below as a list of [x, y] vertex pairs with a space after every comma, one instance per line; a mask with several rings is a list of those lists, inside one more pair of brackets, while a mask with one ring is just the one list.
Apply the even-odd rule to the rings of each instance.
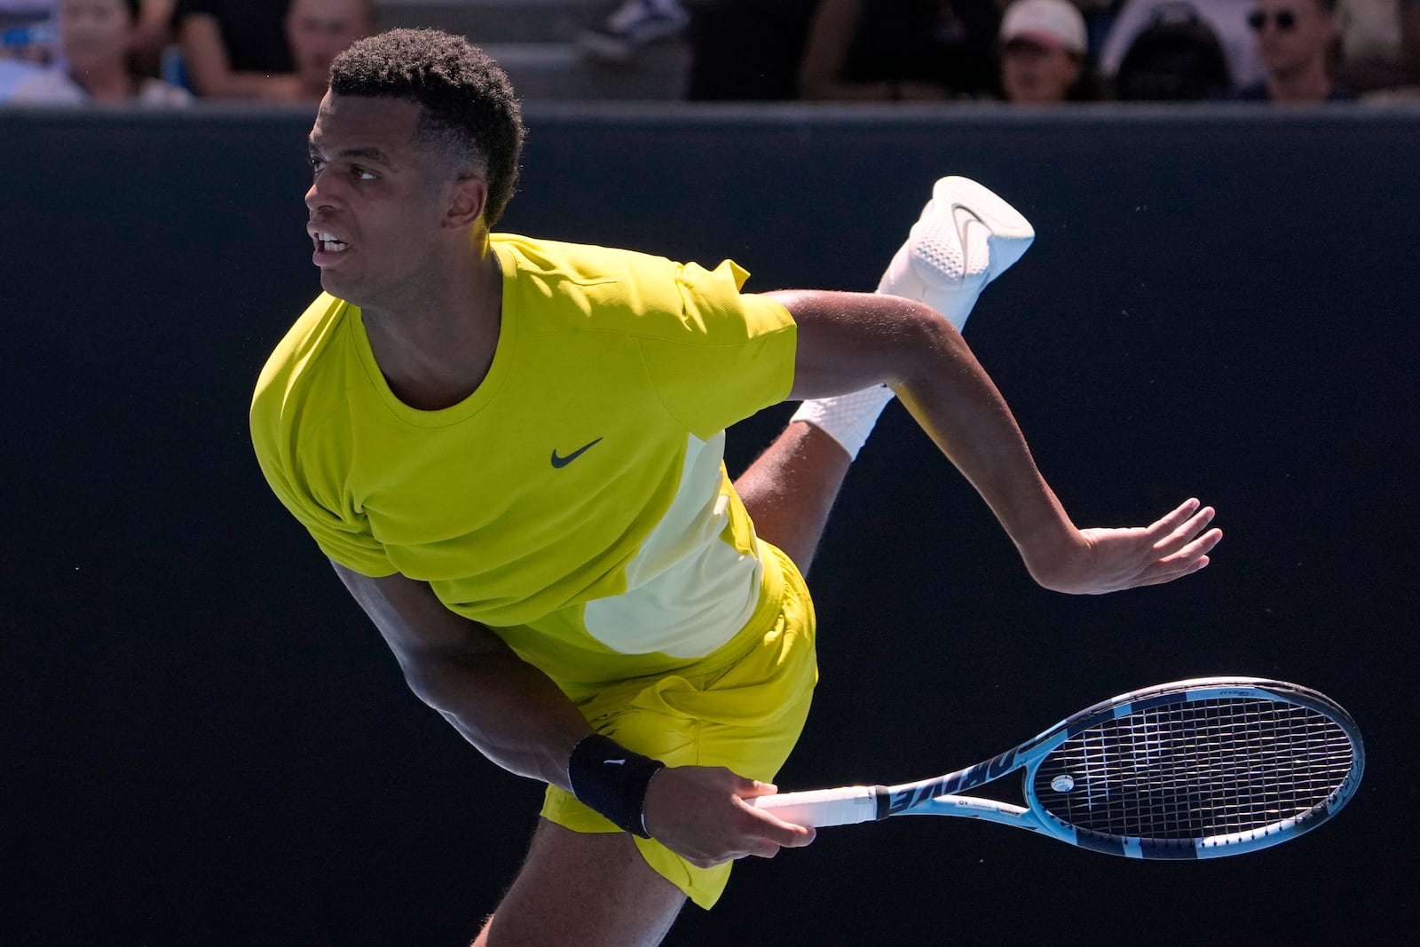
[[1042, 586], [1071, 595], [1173, 582], [1208, 564], [1223, 538], [1221, 530], [1207, 530], [1213, 514], [1187, 500], [1147, 527], [1075, 530], [1065, 549], [1028, 559], [1027, 568]]

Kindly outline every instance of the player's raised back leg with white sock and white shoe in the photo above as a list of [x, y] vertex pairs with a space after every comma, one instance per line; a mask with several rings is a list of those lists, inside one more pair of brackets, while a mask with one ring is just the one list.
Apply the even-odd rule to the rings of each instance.
[[[991, 190], [943, 177], [878, 284], [966, 327], [987, 284], [1035, 239], [1031, 223]], [[785, 432], [736, 480], [755, 530], [808, 572], [843, 476], [893, 393], [886, 385], [804, 402]]]

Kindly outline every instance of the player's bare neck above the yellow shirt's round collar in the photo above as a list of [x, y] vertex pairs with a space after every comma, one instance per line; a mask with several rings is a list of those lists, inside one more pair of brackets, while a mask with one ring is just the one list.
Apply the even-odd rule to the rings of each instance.
[[503, 273], [487, 234], [473, 266], [447, 267], [420, 283], [417, 298], [364, 308], [375, 361], [390, 390], [420, 410], [469, 398], [488, 373], [503, 317]]

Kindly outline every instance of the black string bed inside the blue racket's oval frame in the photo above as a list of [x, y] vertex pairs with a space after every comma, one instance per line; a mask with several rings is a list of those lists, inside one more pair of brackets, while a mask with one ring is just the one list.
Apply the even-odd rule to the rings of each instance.
[[1353, 764], [1325, 714], [1258, 699], [1133, 711], [1089, 727], [1037, 770], [1055, 818], [1113, 836], [1201, 839], [1305, 816]]

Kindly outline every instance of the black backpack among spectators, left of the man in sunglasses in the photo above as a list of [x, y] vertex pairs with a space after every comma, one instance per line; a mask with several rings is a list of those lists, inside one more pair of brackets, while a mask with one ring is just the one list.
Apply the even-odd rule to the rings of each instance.
[[1115, 72], [1115, 98], [1125, 102], [1214, 99], [1233, 88], [1218, 34], [1187, 3], [1154, 7]]

